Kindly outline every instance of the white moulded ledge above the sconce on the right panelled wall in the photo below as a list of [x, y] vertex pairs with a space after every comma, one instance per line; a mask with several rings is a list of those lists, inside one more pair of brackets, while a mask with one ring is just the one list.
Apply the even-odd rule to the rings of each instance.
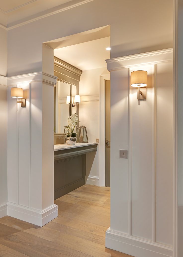
[[106, 60], [108, 71], [131, 68], [138, 66], [139, 64], [149, 65], [168, 61], [173, 61], [173, 48]]

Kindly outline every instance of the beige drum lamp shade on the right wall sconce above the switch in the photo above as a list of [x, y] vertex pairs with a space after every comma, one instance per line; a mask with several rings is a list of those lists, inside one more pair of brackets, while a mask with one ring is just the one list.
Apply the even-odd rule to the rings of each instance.
[[131, 72], [131, 86], [132, 87], [146, 87], [147, 86], [147, 71], [136, 70]]

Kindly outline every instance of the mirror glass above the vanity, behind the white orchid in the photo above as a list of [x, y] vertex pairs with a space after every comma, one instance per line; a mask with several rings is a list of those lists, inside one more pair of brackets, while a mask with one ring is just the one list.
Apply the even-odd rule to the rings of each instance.
[[67, 126], [67, 119], [71, 114], [76, 113], [76, 107], [70, 107], [67, 98], [71, 96], [72, 102], [76, 95], [76, 86], [62, 81], [57, 81], [54, 86], [54, 133], [64, 133], [64, 126]]

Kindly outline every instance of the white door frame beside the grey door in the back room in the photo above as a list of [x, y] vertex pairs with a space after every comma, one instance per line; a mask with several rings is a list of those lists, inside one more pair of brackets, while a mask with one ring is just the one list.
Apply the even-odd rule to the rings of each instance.
[[100, 141], [99, 141], [99, 186], [105, 187], [105, 81], [110, 73], [100, 76]]

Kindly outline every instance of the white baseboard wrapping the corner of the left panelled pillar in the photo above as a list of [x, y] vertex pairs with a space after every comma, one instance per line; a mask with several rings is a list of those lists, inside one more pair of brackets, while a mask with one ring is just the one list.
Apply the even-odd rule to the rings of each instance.
[[8, 202], [7, 215], [42, 227], [58, 216], [58, 206], [53, 204], [39, 211]]

